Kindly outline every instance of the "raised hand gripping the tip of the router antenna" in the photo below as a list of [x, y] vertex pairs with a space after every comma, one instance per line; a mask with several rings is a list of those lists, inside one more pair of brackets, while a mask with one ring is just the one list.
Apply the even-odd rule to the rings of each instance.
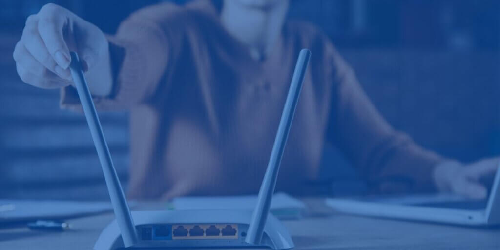
[[[58, 88], [71, 83], [69, 51], [82, 58], [82, 67], [99, 85], [92, 93], [105, 95], [111, 89], [108, 42], [104, 33], [71, 11], [53, 3], [27, 17], [13, 57], [22, 81], [40, 88]], [[93, 82], [90, 81], [90, 82]]]

